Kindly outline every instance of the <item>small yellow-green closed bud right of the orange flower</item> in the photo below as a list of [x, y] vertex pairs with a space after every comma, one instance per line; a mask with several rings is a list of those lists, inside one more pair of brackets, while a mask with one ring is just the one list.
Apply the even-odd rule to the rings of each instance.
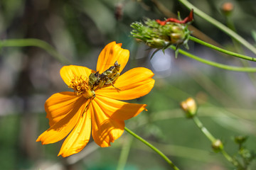
[[197, 106], [196, 101], [193, 98], [188, 98], [186, 101], [182, 101], [181, 108], [185, 111], [187, 118], [193, 118], [193, 116], [196, 115]]

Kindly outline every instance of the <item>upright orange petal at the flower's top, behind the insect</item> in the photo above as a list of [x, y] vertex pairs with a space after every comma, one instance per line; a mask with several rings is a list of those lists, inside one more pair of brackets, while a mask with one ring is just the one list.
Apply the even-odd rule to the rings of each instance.
[[116, 61], [121, 65], [119, 72], [122, 72], [129, 60], [129, 50], [125, 50], [121, 46], [122, 44], [116, 44], [116, 42], [110, 42], [105, 46], [97, 60], [98, 72], [105, 72]]

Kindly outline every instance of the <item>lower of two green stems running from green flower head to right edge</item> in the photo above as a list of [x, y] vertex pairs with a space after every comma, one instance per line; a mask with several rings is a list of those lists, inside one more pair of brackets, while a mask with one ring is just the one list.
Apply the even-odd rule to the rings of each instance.
[[[176, 50], [176, 47], [170, 46], [173, 50]], [[187, 57], [190, 57], [194, 60], [197, 60], [198, 62], [203, 62], [204, 64], [208, 64], [214, 67], [218, 67], [220, 69], [228, 69], [230, 71], [236, 71], [236, 72], [256, 72], [255, 67], [234, 67], [234, 66], [228, 66], [225, 64], [220, 64], [218, 62], [211, 62], [209, 60], [204, 60], [200, 57], [197, 57], [196, 55], [192, 55], [189, 52], [186, 52], [184, 50], [178, 49], [178, 52], [181, 53], [182, 55], [186, 55]]]

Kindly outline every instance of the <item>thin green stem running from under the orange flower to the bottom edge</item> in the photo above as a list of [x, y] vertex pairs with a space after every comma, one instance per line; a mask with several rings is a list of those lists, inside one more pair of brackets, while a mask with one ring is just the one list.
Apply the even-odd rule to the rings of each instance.
[[159, 151], [159, 149], [157, 149], [156, 147], [154, 147], [153, 145], [151, 145], [149, 142], [147, 142], [146, 140], [144, 140], [142, 137], [140, 137], [139, 135], [137, 135], [136, 133], [132, 132], [132, 130], [129, 130], [128, 128], [124, 127], [124, 130], [126, 130], [127, 132], [129, 132], [129, 134], [131, 134], [132, 136], [136, 137], [138, 140], [140, 140], [141, 142], [143, 142], [145, 145], [147, 145], [148, 147], [150, 147], [151, 149], [154, 150], [154, 152], [156, 152], [157, 154], [159, 154], [162, 158], [164, 158], [164, 160], [175, 170], [179, 170], [177, 166], [174, 165], [173, 162], [171, 162], [171, 160], [166, 157], [165, 154], [163, 154], [163, 152]]

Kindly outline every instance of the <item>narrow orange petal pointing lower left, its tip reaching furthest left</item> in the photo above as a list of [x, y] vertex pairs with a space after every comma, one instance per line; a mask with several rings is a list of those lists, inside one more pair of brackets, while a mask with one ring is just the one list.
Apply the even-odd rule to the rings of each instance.
[[[60, 101], [61, 102], [61, 101]], [[64, 113], [63, 118], [58, 120], [58, 122], [53, 123], [52, 126], [45, 132], [43, 132], [36, 142], [41, 141], [43, 145], [58, 142], [63, 140], [64, 137], [68, 135], [68, 133], [75, 127], [76, 123], [78, 123], [78, 118], [85, 110], [86, 99], [83, 97], [78, 98], [75, 103], [68, 106], [71, 110], [65, 109], [64, 111], [68, 111], [68, 113]], [[60, 107], [63, 106], [63, 103], [60, 104]], [[54, 109], [53, 109], [54, 110]], [[58, 112], [57, 112], [58, 113]], [[49, 113], [50, 114], [50, 113]], [[58, 113], [62, 115], [61, 113]], [[53, 114], [50, 114], [53, 115]]]

